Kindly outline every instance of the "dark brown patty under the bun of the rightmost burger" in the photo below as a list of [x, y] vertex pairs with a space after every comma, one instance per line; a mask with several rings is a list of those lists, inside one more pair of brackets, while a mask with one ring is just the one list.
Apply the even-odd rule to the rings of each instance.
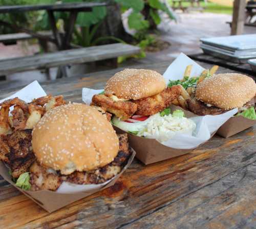
[[197, 100], [196, 97], [188, 101], [188, 109], [199, 116], [206, 116], [208, 114], [215, 116], [228, 111], [216, 106], [207, 106], [204, 102]]

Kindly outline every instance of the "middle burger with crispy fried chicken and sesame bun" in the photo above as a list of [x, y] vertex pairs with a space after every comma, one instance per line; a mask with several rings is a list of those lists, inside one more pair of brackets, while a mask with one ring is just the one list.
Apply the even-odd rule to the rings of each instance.
[[156, 71], [127, 68], [106, 82], [103, 93], [93, 96], [92, 105], [122, 121], [143, 121], [168, 107], [180, 93], [179, 86], [166, 88], [165, 79]]

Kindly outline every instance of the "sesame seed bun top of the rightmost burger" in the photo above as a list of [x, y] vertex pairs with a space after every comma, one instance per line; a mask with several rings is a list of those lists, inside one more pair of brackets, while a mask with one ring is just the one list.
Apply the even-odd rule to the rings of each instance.
[[197, 85], [196, 98], [221, 109], [242, 107], [256, 94], [254, 80], [238, 73], [217, 74]]

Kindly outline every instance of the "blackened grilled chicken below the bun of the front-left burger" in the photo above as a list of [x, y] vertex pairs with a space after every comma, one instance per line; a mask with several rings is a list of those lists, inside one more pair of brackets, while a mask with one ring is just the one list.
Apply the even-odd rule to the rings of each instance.
[[73, 172], [70, 175], [61, 175], [59, 171], [46, 169], [37, 162], [30, 167], [31, 190], [52, 190], [59, 188], [63, 181], [73, 184], [101, 184], [117, 175], [126, 165], [131, 150], [129, 149], [127, 134], [117, 134], [119, 138], [119, 152], [110, 164], [87, 172]]

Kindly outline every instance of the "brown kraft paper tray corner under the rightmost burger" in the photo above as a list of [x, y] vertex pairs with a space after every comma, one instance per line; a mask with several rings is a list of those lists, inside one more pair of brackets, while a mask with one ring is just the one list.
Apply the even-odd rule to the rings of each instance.
[[256, 125], [256, 120], [246, 119], [243, 116], [234, 116], [218, 129], [217, 134], [223, 138], [228, 138], [254, 125]]

